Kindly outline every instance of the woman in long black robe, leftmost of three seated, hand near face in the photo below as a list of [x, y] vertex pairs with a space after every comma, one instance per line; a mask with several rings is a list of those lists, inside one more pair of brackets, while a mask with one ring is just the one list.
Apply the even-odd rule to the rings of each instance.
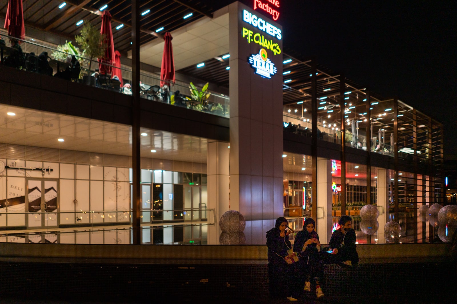
[[286, 218], [278, 217], [275, 227], [266, 232], [269, 291], [273, 298], [287, 296], [290, 301], [297, 301], [298, 289], [295, 271], [297, 263], [288, 264], [285, 260], [292, 248], [289, 234], [293, 233], [292, 229], [287, 228]]

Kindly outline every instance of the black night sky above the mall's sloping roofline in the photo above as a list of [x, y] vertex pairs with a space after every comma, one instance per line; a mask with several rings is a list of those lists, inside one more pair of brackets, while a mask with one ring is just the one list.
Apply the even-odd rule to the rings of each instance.
[[457, 159], [457, 1], [279, 1], [284, 46], [440, 121], [446, 158]]

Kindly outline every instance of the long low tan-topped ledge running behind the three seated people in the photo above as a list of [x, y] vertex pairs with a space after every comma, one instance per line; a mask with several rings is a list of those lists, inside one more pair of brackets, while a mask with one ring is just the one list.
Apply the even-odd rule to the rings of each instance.
[[[383, 263], [411, 263], [420, 260], [450, 259], [449, 243], [436, 244], [361, 244], [361, 259], [382, 259]], [[265, 245], [88, 245], [0, 243], [0, 258], [83, 258], [132, 260], [267, 260]], [[399, 261], [402, 262], [399, 262]], [[99, 262], [99, 261], [98, 261]], [[127, 262], [127, 260], [125, 261]], [[125, 263], [124, 262], [124, 263]]]

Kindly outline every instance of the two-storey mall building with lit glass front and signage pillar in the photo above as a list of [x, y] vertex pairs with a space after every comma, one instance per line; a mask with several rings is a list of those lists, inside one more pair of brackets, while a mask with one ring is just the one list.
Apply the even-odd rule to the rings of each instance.
[[[43, 242], [218, 244], [219, 217], [237, 210], [250, 244], [263, 244], [279, 216], [296, 230], [313, 217], [328, 242], [344, 214], [359, 242], [388, 242], [389, 221], [400, 223], [402, 242], [433, 240], [437, 227], [419, 208], [445, 201], [443, 125], [285, 50], [277, 22], [234, 2], [171, 31], [176, 86], [209, 81], [218, 114], [0, 65], [0, 231], [81, 231]], [[27, 32], [25, 52], [55, 48], [47, 36], [64, 40]], [[138, 41], [124, 81], [137, 79], [137, 46], [140, 80], [158, 84], [164, 43]], [[360, 219], [367, 204], [379, 211], [376, 228]]]

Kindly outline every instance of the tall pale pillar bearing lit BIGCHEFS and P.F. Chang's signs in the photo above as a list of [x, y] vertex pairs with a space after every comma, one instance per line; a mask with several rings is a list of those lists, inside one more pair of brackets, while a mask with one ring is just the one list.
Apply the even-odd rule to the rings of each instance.
[[283, 215], [282, 26], [234, 2], [230, 41], [230, 209]]

